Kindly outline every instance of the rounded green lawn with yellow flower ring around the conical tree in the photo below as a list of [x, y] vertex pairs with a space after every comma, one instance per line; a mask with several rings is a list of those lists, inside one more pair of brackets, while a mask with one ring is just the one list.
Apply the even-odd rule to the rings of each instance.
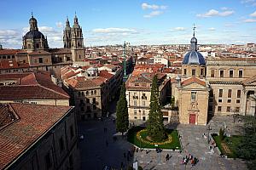
[[133, 127], [128, 132], [128, 141], [141, 148], [161, 148], [169, 150], [180, 150], [181, 145], [178, 139], [177, 130], [166, 129], [168, 139], [163, 142], [152, 142], [148, 137], [145, 127]]

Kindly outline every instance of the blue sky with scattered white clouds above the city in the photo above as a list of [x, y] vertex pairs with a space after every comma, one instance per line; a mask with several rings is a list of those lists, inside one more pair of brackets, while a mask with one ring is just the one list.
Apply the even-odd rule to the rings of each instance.
[[85, 47], [189, 43], [194, 24], [199, 44], [256, 42], [256, 0], [1, 0], [3, 48], [22, 47], [32, 13], [50, 48], [75, 13]]

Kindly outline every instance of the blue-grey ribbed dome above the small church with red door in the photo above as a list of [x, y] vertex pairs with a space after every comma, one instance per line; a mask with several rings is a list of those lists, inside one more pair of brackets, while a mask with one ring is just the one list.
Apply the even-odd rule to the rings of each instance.
[[206, 60], [201, 53], [191, 50], [183, 58], [183, 65], [206, 65]]

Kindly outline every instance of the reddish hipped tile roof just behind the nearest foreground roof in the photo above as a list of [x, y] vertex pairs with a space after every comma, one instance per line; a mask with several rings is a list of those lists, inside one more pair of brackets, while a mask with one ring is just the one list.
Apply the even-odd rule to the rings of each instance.
[[0, 86], [0, 99], [69, 99], [68, 94], [51, 82], [49, 73], [30, 72], [0, 75], [0, 80], [18, 80], [12, 86]]

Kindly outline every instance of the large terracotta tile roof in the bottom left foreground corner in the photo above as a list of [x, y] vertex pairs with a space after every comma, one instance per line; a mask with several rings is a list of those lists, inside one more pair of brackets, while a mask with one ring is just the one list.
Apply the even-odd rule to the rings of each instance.
[[0, 130], [0, 169], [6, 168], [51, 127], [59, 122], [69, 106], [10, 104], [19, 119]]

